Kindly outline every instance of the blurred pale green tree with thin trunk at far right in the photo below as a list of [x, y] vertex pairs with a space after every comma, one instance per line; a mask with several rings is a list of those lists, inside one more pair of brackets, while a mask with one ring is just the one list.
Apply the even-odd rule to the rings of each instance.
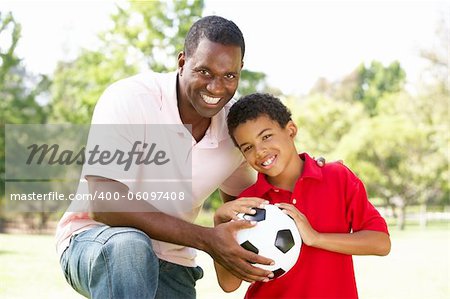
[[398, 208], [401, 229], [407, 206], [448, 203], [444, 136], [421, 120], [423, 100], [405, 92], [383, 98], [378, 114], [354, 126], [336, 149], [370, 197]]

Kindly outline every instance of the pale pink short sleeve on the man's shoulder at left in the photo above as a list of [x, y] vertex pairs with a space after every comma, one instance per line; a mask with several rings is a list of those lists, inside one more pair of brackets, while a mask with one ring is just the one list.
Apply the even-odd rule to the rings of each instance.
[[[140, 110], [137, 109], [133, 93], [128, 84], [117, 82], [108, 87], [100, 97], [94, 110], [86, 146], [87, 163], [83, 166], [82, 177], [101, 176], [119, 181], [133, 190], [138, 177], [138, 167], [134, 163], [119, 163], [126, 159], [135, 146], [142, 151], [145, 140], [145, 125]], [[95, 152], [98, 152], [96, 155]], [[100, 163], [103, 153], [110, 153], [109, 163]], [[116, 155], [115, 159], [112, 159]]]

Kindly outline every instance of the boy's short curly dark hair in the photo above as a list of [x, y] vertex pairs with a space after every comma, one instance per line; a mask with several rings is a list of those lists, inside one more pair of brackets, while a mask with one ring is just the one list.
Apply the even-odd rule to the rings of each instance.
[[292, 120], [291, 115], [289, 109], [275, 96], [268, 93], [249, 94], [231, 106], [227, 116], [228, 133], [237, 146], [233, 134], [239, 125], [260, 116], [267, 116], [284, 128]]

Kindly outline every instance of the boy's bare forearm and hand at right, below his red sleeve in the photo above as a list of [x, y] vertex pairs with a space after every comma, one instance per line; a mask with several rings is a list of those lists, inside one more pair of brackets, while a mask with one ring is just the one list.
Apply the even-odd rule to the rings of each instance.
[[294, 218], [308, 246], [348, 255], [387, 255], [391, 250], [389, 235], [373, 230], [354, 233], [319, 233], [314, 230], [306, 216], [290, 204], [277, 204], [286, 214]]

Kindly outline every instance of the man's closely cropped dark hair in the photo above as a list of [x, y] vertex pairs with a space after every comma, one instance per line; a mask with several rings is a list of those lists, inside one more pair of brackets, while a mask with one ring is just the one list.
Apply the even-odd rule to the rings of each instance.
[[241, 48], [244, 59], [245, 42], [241, 30], [233, 21], [219, 16], [207, 16], [195, 22], [186, 35], [184, 54], [186, 57], [197, 50], [202, 38], [222, 45], [233, 45]]

